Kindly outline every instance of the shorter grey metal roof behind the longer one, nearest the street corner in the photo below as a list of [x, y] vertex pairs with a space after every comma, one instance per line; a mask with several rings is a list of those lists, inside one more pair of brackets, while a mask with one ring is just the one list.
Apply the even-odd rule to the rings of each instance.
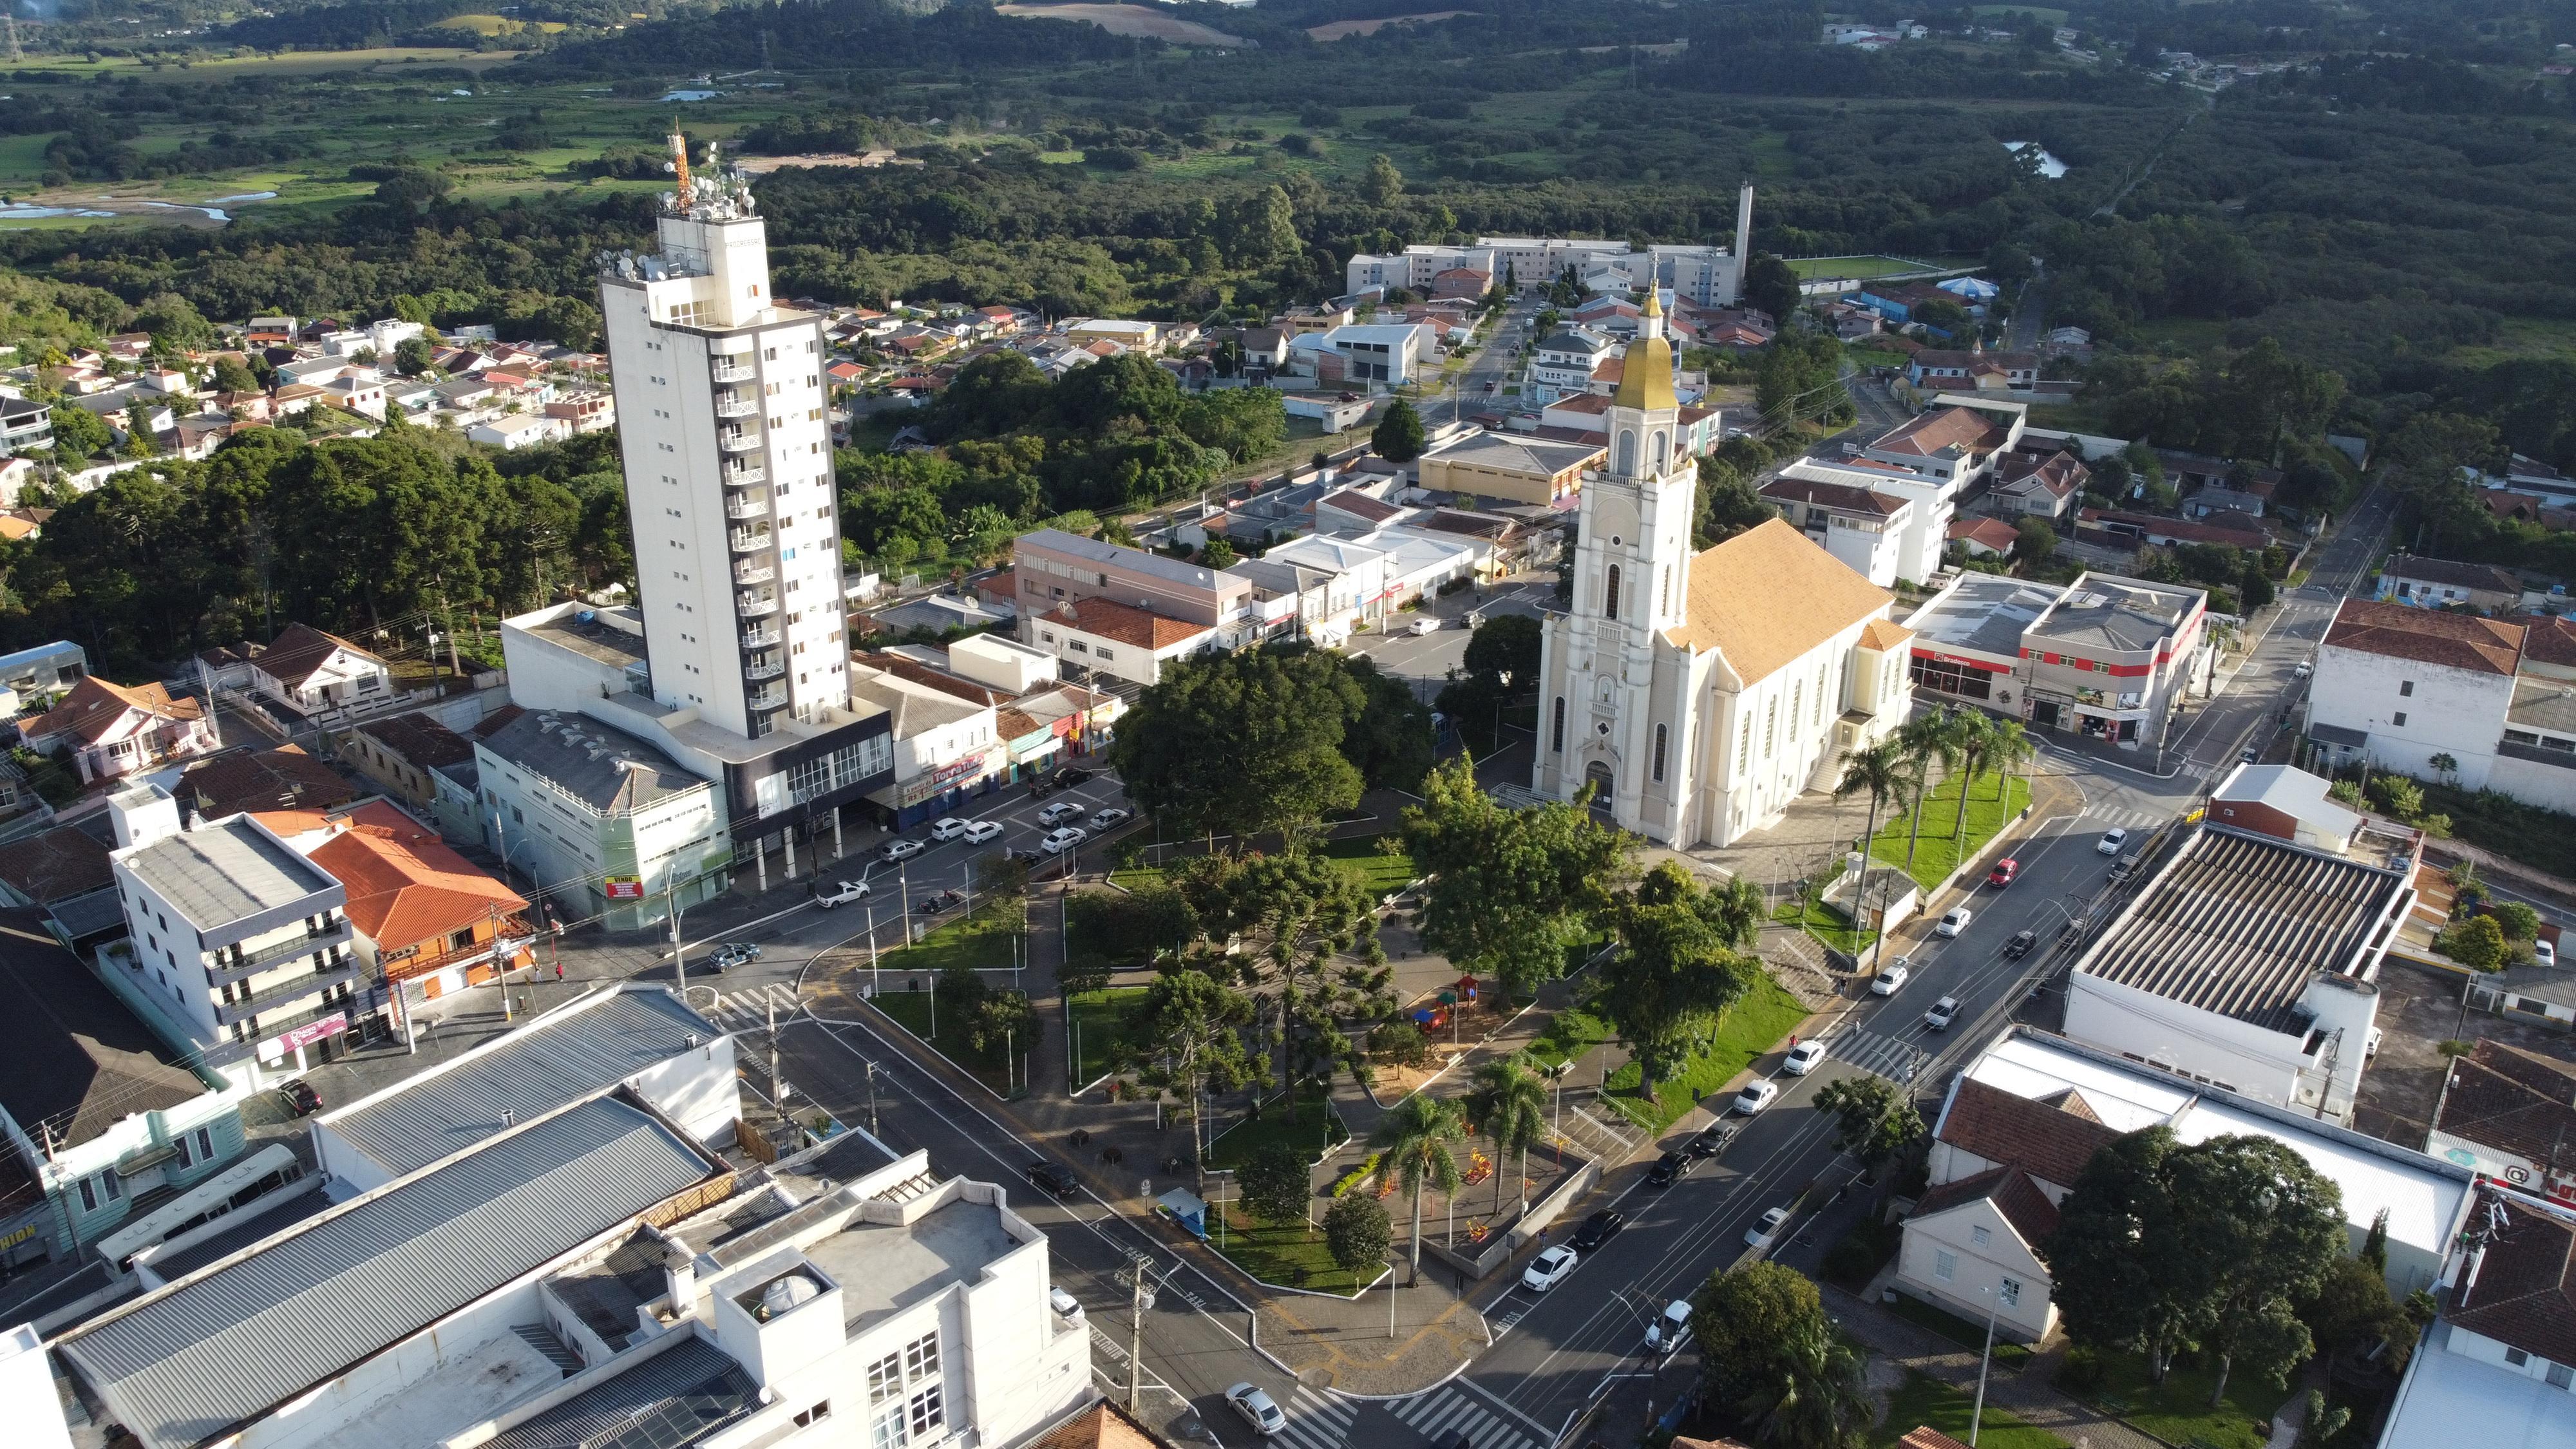
[[502, 1132], [505, 1111], [531, 1122], [688, 1052], [690, 1036], [703, 1044], [721, 1034], [662, 990], [618, 990], [585, 1011], [528, 1024], [443, 1073], [412, 1078], [319, 1124], [399, 1178]]

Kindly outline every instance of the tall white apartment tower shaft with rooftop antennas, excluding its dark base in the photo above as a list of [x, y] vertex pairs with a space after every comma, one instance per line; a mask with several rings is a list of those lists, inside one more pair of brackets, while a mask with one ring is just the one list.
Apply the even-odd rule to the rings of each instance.
[[770, 297], [750, 186], [688, 175], [600, 276], [652, 696], [744, 737], [850, 704], [822, 317]]

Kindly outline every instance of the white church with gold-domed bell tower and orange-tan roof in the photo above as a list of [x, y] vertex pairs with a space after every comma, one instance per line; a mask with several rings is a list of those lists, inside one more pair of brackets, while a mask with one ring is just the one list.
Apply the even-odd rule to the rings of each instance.
[[1574, 608], [1548, 619], [1533, 789], [1587, 784], [1620, 828], [1726, 846], [1842, 779], [1904, 724], [1911, 629], [1893, 596], [1772, 518], [1690, 552], [1698, 464], [1674, 446], [1672, 343], [1654, 294], [1584, 477]]

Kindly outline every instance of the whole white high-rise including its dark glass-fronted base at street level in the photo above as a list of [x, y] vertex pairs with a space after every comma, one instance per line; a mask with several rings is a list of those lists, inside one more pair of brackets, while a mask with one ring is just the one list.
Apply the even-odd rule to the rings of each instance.
[[680, 160], [654, 235], [600, 273], [644, 688], [580, 712], [719, 781], [716, 825], [793, 874], [799, 835], [837, 835], [891, 763], [886, 722], [850, 709], [822, 317], [770, 294], [739, 175]]

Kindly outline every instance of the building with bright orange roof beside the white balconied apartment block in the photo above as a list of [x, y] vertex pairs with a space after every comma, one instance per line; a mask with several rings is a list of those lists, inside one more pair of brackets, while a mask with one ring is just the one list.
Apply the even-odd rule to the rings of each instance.
[[340, 820], [309, 859], [348, 887], [358, 959], [386, 987], [397, 1031], [410, 1031], [417, 1003], [533, 959], [528, 900], [381, 799]]

